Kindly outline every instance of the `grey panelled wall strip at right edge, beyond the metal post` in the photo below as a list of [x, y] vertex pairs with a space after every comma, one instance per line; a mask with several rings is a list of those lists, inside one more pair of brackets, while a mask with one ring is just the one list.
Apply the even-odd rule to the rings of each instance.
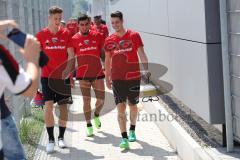
[[240, 1], [228, 1], [229, 56], [234, 137], [240, 141]]

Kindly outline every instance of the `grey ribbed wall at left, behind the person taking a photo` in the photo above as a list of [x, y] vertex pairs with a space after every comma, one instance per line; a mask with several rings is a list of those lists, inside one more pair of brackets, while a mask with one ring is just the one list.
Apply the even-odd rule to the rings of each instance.
[[[47, 25], [48, 8], [51, 5], [59, 5], [64, 10], [64, 18], [68, 19], [72, 15], [72, 3], [65, 0], [0, 0], [0, 20], [14, 19], [19, 24], [21, 30], [33, 35]], [[24, 66], [24, 61], [18, 52], [17, 46], [12, 42], [0, 41], [7, 46], [17, 61]], [[29, 99], [13, 96], [5, 93], [7, 103], [12, 108], [17, 122], [23, 114], [29, 114]]]

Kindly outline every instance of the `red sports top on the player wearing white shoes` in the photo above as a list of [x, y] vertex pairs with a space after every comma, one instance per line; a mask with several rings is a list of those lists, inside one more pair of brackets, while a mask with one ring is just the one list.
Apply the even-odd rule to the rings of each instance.
[[48, 28], [37, 33], [37, 39], [41, 44], [42, 51], [48, 56], [49, 62], [42, 68], [43, 78], [62, 79], [62, 71], [67, 64], [67, 48], [71, 47], [71, 36], [67, 29], [60, 28], [56, 34]]

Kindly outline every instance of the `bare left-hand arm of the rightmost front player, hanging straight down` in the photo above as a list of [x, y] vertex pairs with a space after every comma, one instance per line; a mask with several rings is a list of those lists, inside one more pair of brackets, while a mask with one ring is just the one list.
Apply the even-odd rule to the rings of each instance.
[[105, 51], [105, 75], [106, 75], [106, 85], [109, 89], [112, 89], [111, 57], [110, 57], [110, 53], [106, 51]]

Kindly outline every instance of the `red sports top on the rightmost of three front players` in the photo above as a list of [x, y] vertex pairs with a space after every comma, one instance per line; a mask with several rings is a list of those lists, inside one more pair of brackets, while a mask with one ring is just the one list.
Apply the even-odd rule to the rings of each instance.
[[127, 30], [119, 37], [115, 33], [105, 40], [104, 48], [111, 57], [112, 80], [139, 80], [140, 68], [137, 50], [143, 46], [139, 33]]

